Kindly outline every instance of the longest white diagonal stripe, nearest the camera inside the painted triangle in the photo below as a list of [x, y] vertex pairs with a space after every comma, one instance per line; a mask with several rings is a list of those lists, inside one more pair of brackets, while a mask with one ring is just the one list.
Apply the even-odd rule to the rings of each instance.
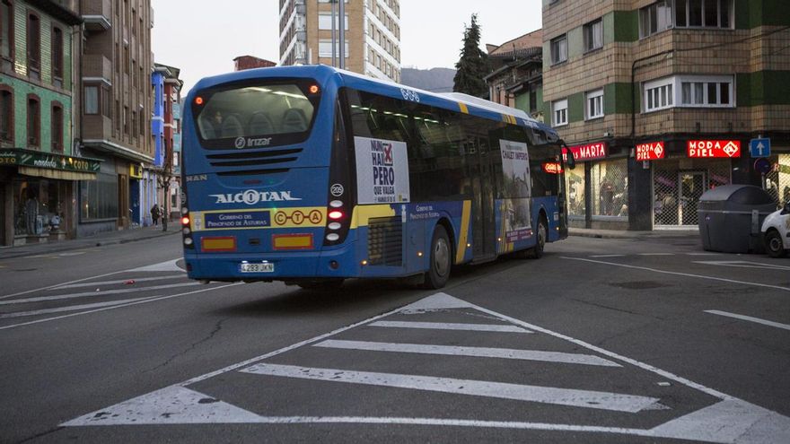
[[573, 388], [527, 386], [505, 382], [435, 378], [432, 376], [377, 373], [373, 371], [315, 369], [267, 363], [255, 364], [252, 367], [241, 370], [241, 372], [284, 378], [346, 382], [368, 386], [410, 388], [413, 390], [452, 393], [454, 395], [487, 396], [541, 404], [612, 410], [631, 414], [653, 408], [659, 401], [655, 397], [576, 390]]

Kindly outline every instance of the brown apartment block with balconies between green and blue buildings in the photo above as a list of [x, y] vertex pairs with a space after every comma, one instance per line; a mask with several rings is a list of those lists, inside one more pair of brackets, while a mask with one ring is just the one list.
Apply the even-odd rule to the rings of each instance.
[[[134, 226], [147, 212], [134, 181], [154, 164], [151, 115], [150, 0], [82, 0], [83, 57], [79, 66], [83, 155], [101, 160], [97, 179], [79, 190], [80, 236]], [[134, 188], [134, 189], [133, 189]], [[138, 219], [139, 220], [139, 219]]]

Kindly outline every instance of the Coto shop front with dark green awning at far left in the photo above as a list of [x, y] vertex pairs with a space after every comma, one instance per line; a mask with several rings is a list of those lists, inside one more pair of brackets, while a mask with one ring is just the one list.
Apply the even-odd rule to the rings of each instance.
[[0, 150], [0, 242], [23, 245], [76, 235], [77, 181], [92, 181], [100, 161], [18, 148]]

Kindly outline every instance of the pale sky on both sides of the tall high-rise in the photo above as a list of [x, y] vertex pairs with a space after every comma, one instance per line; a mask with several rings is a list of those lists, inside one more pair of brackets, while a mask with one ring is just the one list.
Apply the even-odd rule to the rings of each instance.
[[[233, 58], [278, 62], [278, 0], [151, 0], [154, 61], [180, 68], [182, 95], [202, 77], [233, 71]], [[219, 5], [219, 7], [218, 7]], [[480, 48], [540, 29], [541, 0], [400, 0], [403, 67], [452, 68], [478, 14]]]

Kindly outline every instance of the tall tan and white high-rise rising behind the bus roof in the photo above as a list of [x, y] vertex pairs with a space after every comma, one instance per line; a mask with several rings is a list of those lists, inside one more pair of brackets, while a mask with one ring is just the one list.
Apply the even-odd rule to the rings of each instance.
[[[340, 66], [338, 0], [280, 0], [279, 5], [279, 65]], [[344, 8], [344, 67], [399, 82], [399, 0], [345, 0]]]

